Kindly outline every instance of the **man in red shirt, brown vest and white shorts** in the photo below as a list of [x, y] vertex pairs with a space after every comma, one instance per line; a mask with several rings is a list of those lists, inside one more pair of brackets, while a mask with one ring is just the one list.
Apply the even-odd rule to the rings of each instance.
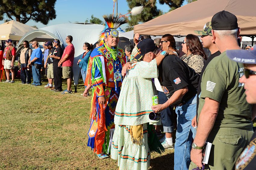
[[[2, 64], [4, 65], [4, 69], [6, 72], [7, 80], [5, 83], [14, 83], [14, 60], [16, 55], [16, 48], [12, 46], [12, 40], [8, 39], [5, 41], [5, 50], [4, 50], [4, 57], [2, 60]], [[11, 81], [10, 81], [10, 71], [11, 71]]]

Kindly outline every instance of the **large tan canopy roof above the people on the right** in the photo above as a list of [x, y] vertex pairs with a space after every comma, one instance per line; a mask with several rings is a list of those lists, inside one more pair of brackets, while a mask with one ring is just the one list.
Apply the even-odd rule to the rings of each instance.
[[240, 35], [256, 35], [255, 0], [198, 0], [184, 5], [146, 23], [134, 26], [134, 33], [142, 35], [188, 35], [202, 30], [214, 14], [228, 11], [236, 15]]

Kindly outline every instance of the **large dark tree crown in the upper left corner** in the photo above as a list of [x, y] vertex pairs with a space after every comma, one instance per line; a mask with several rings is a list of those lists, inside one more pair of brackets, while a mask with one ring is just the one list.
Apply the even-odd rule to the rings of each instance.
[[48, 24], [56, 18], [56, 0], [0, 0], [0, 20], [6, 15], [11, 20], [27, 23], [29, 20]]

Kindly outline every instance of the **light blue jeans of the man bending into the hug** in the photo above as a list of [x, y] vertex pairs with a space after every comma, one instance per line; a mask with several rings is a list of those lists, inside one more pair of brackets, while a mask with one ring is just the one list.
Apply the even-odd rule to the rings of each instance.
[[187, 170], [191, 162], [190, 151], [194, 134], [191, 121], [196, 115], [196, 96], [189, 99], [186, 104], [177, 106], [175, 110], [177, 114], [177, 132], [174, 145], [175, 170]]

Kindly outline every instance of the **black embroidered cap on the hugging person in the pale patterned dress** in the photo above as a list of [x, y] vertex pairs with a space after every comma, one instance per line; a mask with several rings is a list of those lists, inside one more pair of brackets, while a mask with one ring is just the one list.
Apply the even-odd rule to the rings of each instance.
[[155, 50], [157, 47], [155, 46], [154, 40], [145, 38], [138, 43], [136, 48], [138, 53], [134, 56], [134, 60], [139, 61], [146, 53]]

